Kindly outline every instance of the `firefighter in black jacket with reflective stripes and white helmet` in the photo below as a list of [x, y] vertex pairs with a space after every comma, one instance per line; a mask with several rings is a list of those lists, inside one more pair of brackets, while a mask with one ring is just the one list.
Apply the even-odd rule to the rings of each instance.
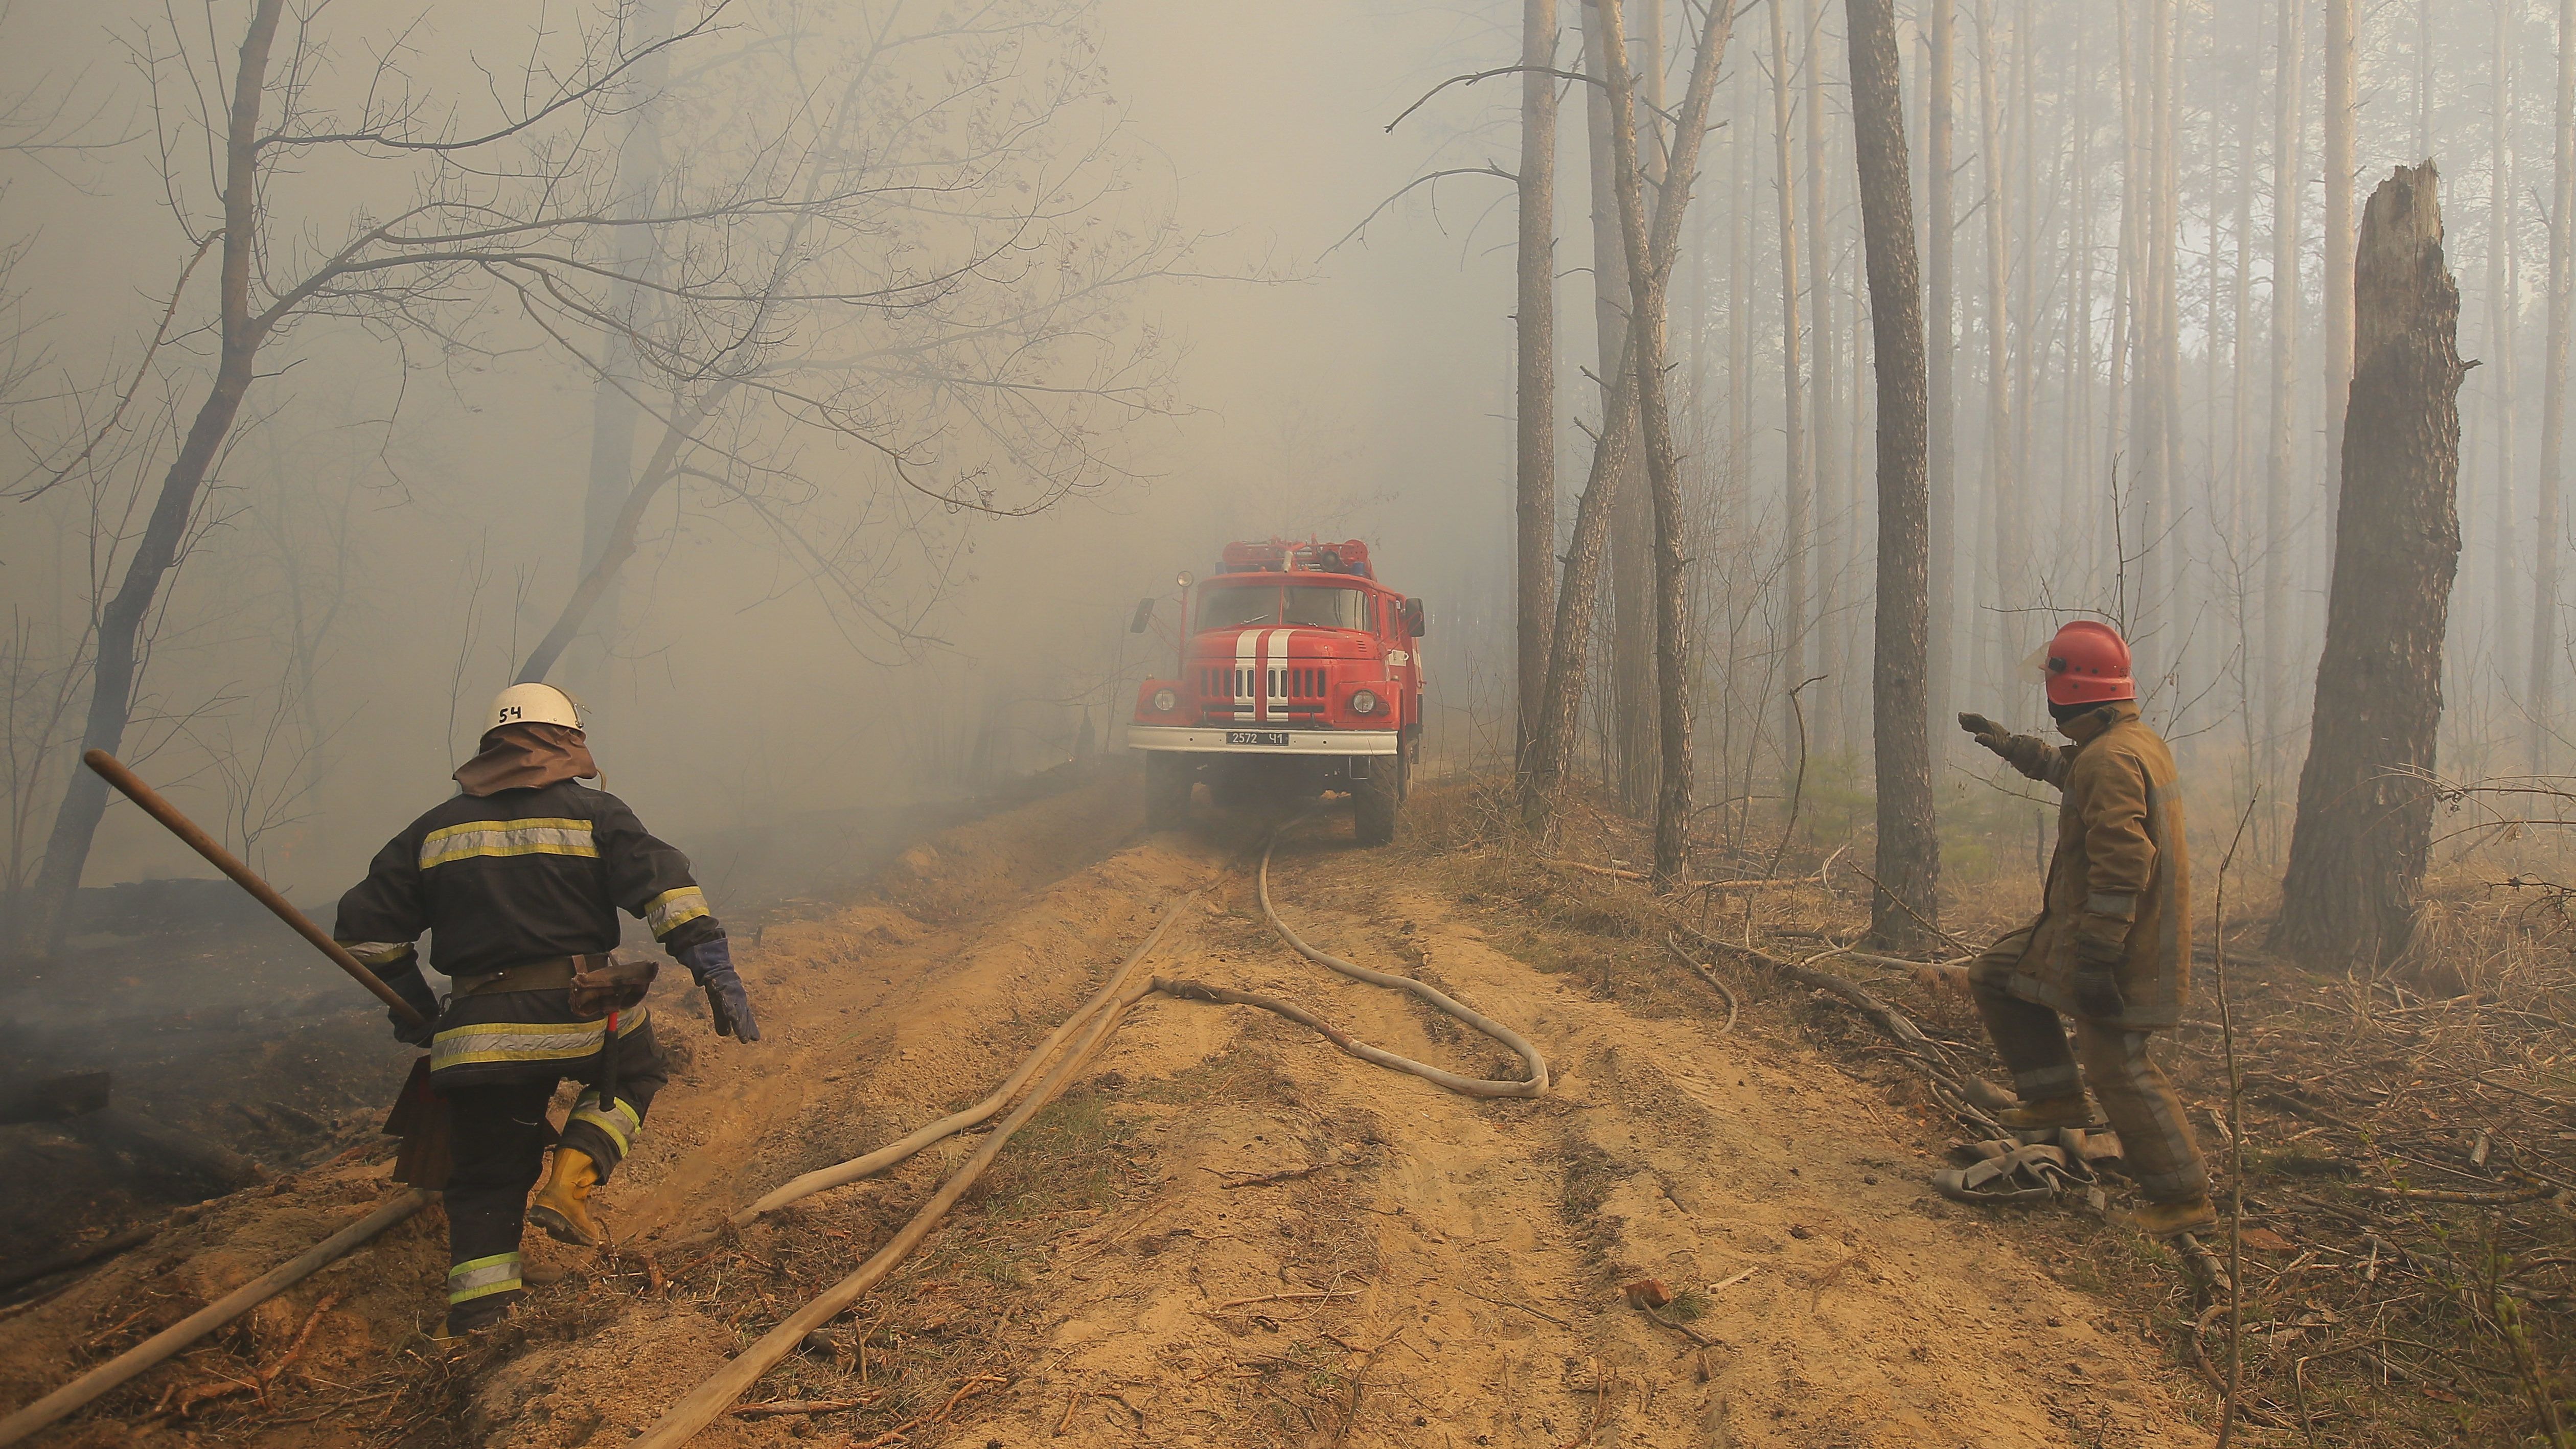
[[[562, 1243], [605, 1243], [590, 1191], [667, 1080], [641, 1003], [574, 1008], [572, 977], [608, 964], [618, 910], [641, 918], [706, 987], [719, 1034], [760, 1039], [688, 856], [618, 797], [577, 784], [598, 773], [572, 696], [515, 683], [492, 701], [482, 753], [456, 771], [464, 792], [394, 835], [340, 897], [332, 936], [433, 1021], [428, 1031], [397, 1021], [394, 1034], [430, 1049], [430, 1085], [451, 1114], [448, 1336], [520, 1299], [528, 1217]], [[420, 975], [412, 944], [422, 931], [435, 933], [433, 964], [453, 982], [446, 1008]], [[556, 1134], [546, 1104], [564, 1078], [587, 1091]], [[549, 1142], [554, 1165], [531, 1204]]]

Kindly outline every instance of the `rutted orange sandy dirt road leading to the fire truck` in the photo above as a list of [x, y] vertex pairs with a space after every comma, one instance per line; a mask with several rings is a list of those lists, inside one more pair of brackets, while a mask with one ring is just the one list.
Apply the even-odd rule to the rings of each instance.
[[[1260, 920], [1249, 843], [1224, 820], [1141, 838], [1118, 781], [940, 835], [863, 905], [747, 944], [760, 1047], [662, 998], [688, 1065], [608, 1191], [621, 1250], [533, 1245], [562, 1281], [502, 1341], [435, 1361], [417, 1338], [443, 1266], [425, 1214], [62, 1439], [621, 1444], [848, 1271], [974, 1142], [739, 1238], [711, 1222], [987, 1093], [1188, 892], [1206, 895], [1146, 969], [1507, 1075], [1481, 1036], [1296, 959]], [[1435, 882], [1324, 820], [1283, 843], [1275, 892], [1314, 944], [1517, 1026], [1556, 1070], [1551, 1096], [1471, 1101], [1267, 1013], [1149, 998], [933, 1245], [752, 1395], [845, 1408], [729, 1418], [701, 1444], [2197, 1436], [2200, 1408], [2136, 1325], [2056, 1284], [2009, 1222], [1919, 1186], [1935, 1163], [1875, 1088], [1777, 1036], [1721, 1034], [1721, 1011], [1646, 1016], [1533, 969], [1497, 946], [1510, 902]], [[67, 1377], [67, 1343], [108, 1354], [358, 1214], [381, 1173], [361, 1150], [237, 1194], [0, 1320], [0, 1403]], [[1628, 1307], [1618, 1284], [1638, 1276], [1680, 1294], [1687, 1333]], [[307, 1320], [265, 1408], [214, 1392], [258, 1379]], [[183, 1385], [206, 1390], [193, 1421], [149, 1413]]]

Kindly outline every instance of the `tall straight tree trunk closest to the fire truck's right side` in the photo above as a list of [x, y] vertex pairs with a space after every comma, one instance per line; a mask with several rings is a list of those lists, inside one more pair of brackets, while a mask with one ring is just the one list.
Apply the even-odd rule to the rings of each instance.
[[1512, 758], [1528, 761], [1548, 683], [1556, 596], [1556, 0], [1528, 0], [1520, 23], [1520, 714]]

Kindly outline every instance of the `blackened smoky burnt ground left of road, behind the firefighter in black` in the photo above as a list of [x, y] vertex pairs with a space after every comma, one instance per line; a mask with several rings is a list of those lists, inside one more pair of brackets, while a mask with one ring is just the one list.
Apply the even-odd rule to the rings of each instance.
[[[1023, 784], [1010, 804], [1048, 781]], [[966, 804], [837, 810], [688, 848], [729, 928], [824, 910]], [[412, 1052], [384, 1008], [224, 879], [85, 890], [67, 949], [0, 972], [0, 1075], [113, 1075], [108, 1114], [0, 1127], [0, 1266], [374, 1137]], [[304, 902], [330, 926], [330, 900]], [[629, 946], [652, 938], [629, 923]], [[8, 1294], [0, 1294], [5, 1302]]]

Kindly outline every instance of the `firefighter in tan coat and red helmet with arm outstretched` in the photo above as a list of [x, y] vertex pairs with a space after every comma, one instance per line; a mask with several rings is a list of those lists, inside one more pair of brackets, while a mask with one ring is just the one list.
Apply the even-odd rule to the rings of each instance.
[[[2048, 714], [2069, 745], [1960, 714], [2012, 768], [2063, 792], [2040, 918], [1968, 967], [1968, 993], [2012, 1070], [2004, 1127], [2087, 1127], [2092, 1085], [2156, 1238], [2210, 1232], [2210, 1176], [2182, 1098], [2146, 1047], [2182, 1021], [2192, 980], [2192, 861], [2174, 753], [2138, 719], [2128, 642], [2092, 619], [2045, 650]], [[2074, 1049], [2063, 1018], [2074, 1021]], [[2081, 1062], [2081, 1070], [2079, 1070]]]

